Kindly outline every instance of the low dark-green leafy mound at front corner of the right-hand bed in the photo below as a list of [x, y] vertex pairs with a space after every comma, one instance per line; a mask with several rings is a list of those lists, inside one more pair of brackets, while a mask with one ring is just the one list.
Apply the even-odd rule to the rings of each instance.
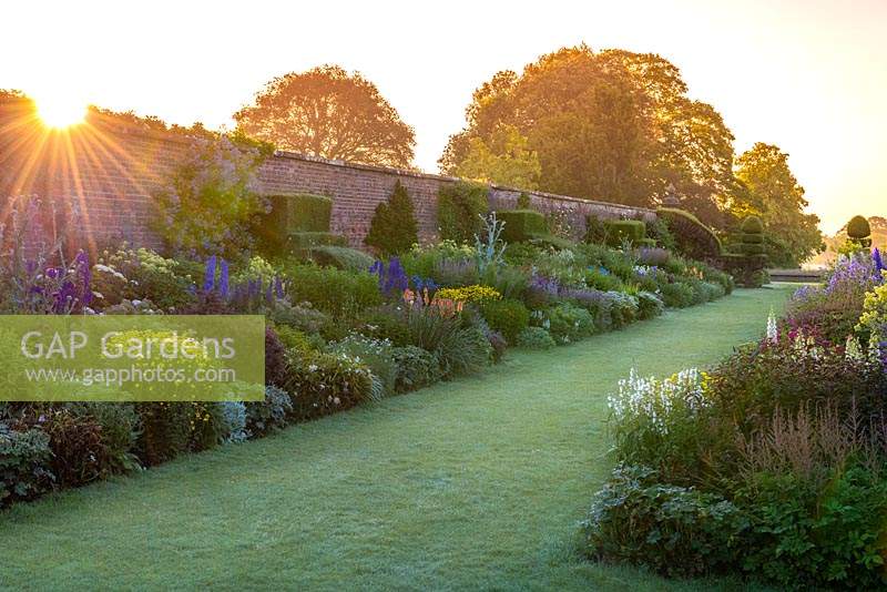
[[712, 493], [657, 482], [655, 471], [618, 467], [583, 522], [585, 553], [672, 576], [722, 571], [740, 550], [745, 517]]

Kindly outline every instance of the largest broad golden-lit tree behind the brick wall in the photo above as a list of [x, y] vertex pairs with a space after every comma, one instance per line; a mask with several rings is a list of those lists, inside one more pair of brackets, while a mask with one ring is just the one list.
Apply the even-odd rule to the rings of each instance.
[[682, 207], [717, 223], [722, 195], [735, 187], [733, 134], [686, 92], [659, 55], [564, 48], [481, 85], [441, 170], [459, 171], [478, 142], [489, 147], [497, 130], [513, 126], [539, 156], [544, 191], [652, 205], [671, 184]]

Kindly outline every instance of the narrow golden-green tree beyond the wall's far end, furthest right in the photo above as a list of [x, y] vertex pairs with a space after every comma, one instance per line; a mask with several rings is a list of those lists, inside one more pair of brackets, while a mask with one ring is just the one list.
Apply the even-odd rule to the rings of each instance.
[[741, 191], [731, 203], [736, 217], [757, 215], [764, 222], [773, 265], [797, 266], [824, 248], [819, 217], [809, 205], [778, 146], [756, 143], [736, 160]]

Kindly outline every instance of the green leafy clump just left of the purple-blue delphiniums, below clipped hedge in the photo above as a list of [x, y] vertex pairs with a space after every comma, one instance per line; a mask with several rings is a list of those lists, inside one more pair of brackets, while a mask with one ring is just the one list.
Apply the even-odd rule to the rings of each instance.
[[378, 282], [368, 272], [346, 272], [315, 265], [287, 265], [289, 296], [317, 309], [340, 316], [381, 304]]

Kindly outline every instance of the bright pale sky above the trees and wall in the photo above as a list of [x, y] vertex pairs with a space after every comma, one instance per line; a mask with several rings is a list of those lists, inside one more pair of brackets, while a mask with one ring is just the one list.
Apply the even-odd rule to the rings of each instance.
[[210, 127], [266, 81], [359, 70], [437, 170], [471, 92], [584, 41], [655, 52], [712, 103], [741, 152], [778, 144], [830, 233], [887, 215], [887, 0], [11, 2], [0, 89]]

